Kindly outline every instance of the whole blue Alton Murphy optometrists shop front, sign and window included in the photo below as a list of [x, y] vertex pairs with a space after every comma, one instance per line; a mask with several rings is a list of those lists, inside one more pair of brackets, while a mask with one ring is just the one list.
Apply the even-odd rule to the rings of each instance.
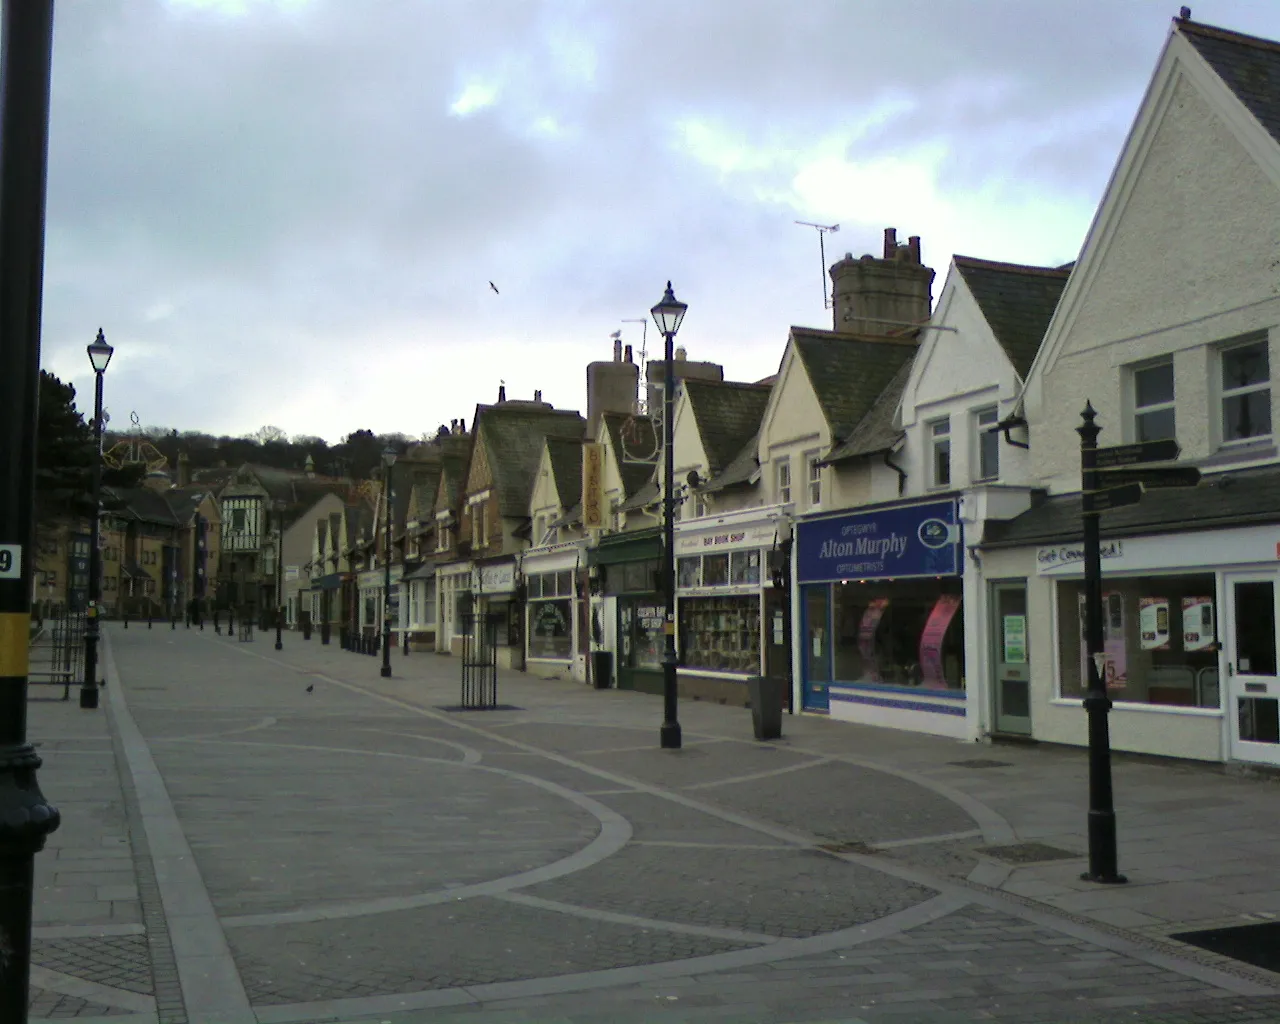
[[804, 710], [965, 739], [959, 495], [796, 524]]

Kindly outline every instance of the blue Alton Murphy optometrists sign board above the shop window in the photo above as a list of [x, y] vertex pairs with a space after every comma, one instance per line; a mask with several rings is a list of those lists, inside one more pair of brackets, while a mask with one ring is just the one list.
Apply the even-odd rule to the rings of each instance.
[[800, 582], [955, 576], [960, 535], [954, 500], [800, 522]]

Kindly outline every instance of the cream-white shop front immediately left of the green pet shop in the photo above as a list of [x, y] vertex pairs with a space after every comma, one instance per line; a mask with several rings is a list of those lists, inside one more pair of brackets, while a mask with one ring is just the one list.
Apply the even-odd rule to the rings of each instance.
[[525, 552], [525, 667], [548, 678], [586, 678], [588, 631], [579, 543]]

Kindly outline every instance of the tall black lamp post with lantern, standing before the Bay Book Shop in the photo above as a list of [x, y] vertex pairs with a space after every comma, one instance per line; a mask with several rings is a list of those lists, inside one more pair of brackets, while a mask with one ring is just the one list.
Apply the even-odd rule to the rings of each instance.
[[662, 589], [667, 603], [663, 632], [666, 650], [662, 655], [662, 732], [663, 749], [680, 749], [680, 722], [676, 718], [676, 453], [675, 436], [675, 392], [676, 367], [672, 352], [676, 332], [689, 308], [676, 298], [667, 282], [662, 301], [654, 306], [654, 323], [666, 339], [662, 374]]

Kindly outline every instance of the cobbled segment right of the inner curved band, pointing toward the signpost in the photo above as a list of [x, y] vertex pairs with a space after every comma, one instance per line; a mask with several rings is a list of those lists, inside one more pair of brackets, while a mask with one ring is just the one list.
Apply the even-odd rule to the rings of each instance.
[[803, 938], [864, 924], [934, 893], [813, 850], [628, 846], [530, 896], [680, 924]]

